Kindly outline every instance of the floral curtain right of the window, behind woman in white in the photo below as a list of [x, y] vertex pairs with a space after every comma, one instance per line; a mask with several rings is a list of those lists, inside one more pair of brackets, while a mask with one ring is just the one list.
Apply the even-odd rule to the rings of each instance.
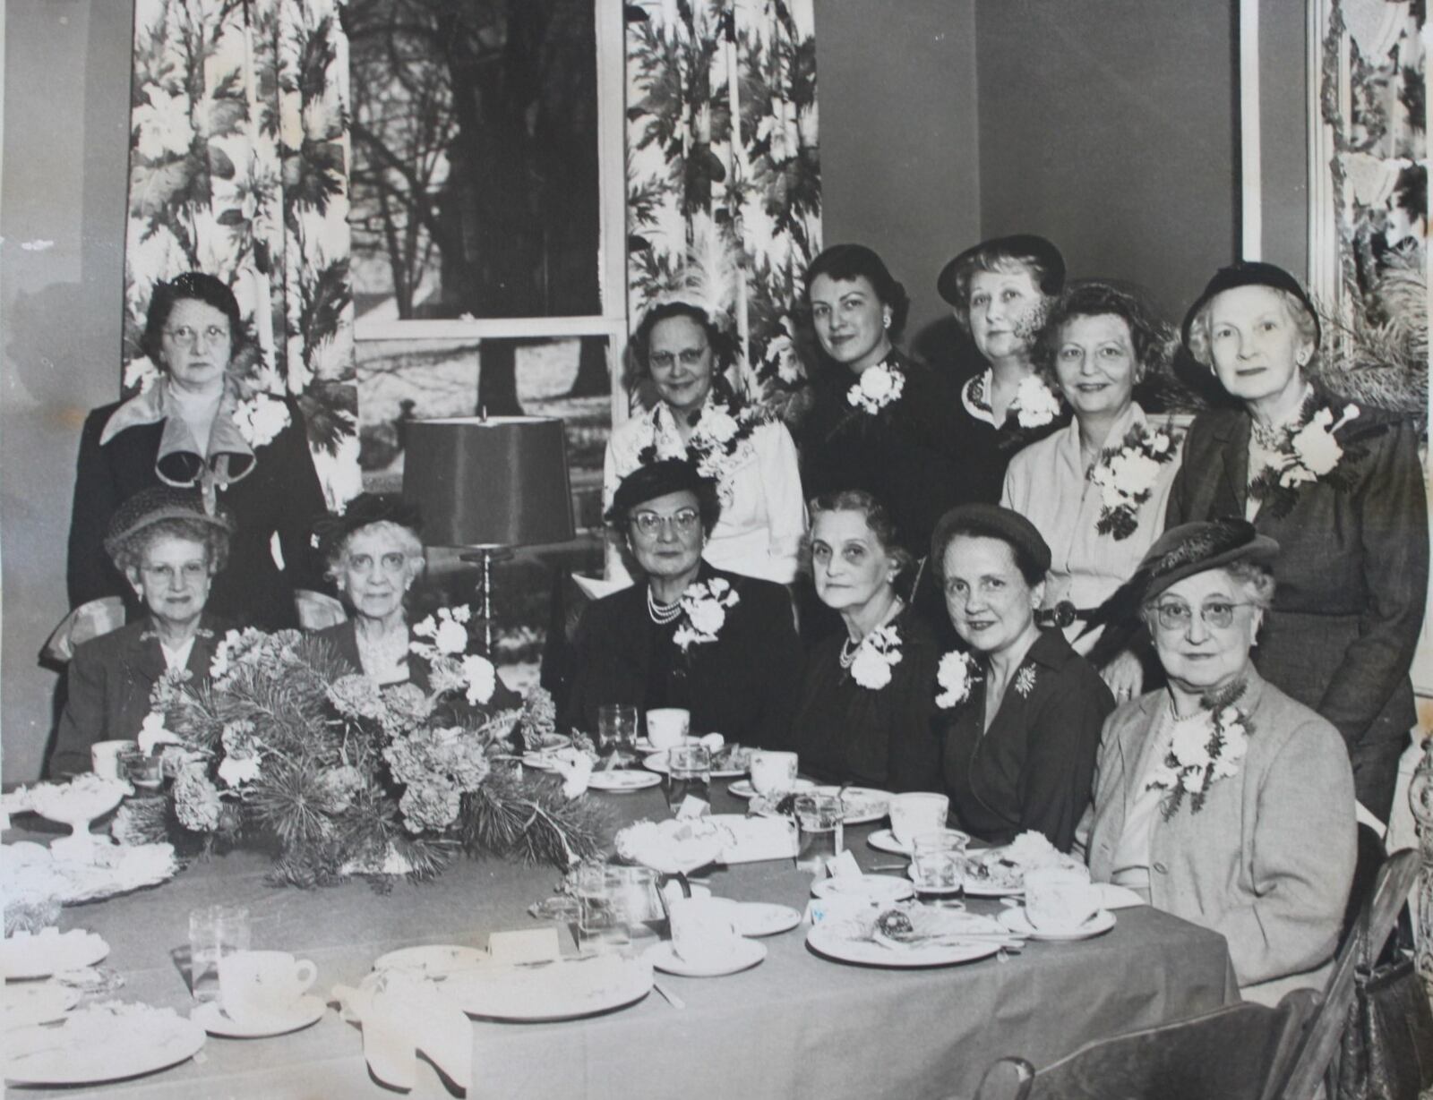
[[715, 238], [739, 265], [739, 381], [785, 411], [804, 380], [791, 309], [821, 249], [811, 0], [628, 3], [626, 82], [629, 317]]

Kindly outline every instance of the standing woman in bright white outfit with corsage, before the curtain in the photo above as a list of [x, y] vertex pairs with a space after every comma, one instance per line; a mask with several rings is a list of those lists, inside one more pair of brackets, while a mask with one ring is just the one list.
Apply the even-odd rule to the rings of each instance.
[[[612, 433], [603, 507], [622, 478], [662, 458], [688, 458], [716, 481], [721, 518], [702, 557], [716, 569], [790, 584], [805, 534], [805, 504], [791, 433], [737, 397], [724, 372], [731, 341], [705, 309], [669, 301], [648, 309], [632, 337], [658, 392], [652, 408]], [[631, 583], [609, 554], [608, 579]]]

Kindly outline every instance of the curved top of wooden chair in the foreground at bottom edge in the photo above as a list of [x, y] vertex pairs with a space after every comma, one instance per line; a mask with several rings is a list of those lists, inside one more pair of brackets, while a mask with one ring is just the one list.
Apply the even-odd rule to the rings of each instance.
[[1315, 1001], [1295, 990], [1277, 1008], [1227, 1005], [1091, 1043], [1037, 1073], [1002, 1058], [977, 1100], [1260, 1100], [1285, 1036], [1303, 1030]]

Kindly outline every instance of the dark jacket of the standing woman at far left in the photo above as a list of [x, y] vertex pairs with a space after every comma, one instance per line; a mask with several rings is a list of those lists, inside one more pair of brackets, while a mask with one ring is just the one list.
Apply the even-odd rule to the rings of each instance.
[[[219, 490], [219, 503], [234, 513], [238, 530], [229, 540], [229, 564], [215, 574], [209, 609], [236, 623], [267, 630], [298, 626], [294, 589], [327, 589], [322, 567], [310, 546], [310, 526], [327, 510], [304, 430], [304, 414], [292, 398], [289, 423], [267, 444], [254, 448], [254, 468]], [[133, 589], [105, 553], [109, 520], [125, 500], [162, 484], [155, 457], [163, 423], [125, 428], [103, 447], [105, 425], [123, 402], [89, 414], [80, 435], [70, 518], [70, 607], [120, 596], [133, 620], [142, 612]], [[285, 570], [279, 571], [269, 540], [279, 537]]]

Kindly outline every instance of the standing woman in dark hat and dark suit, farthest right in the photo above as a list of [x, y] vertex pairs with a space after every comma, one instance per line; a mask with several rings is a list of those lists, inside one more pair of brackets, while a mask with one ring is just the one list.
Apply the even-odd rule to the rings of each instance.
[[1273, 264], [1222, 268], [1184, 341], [1241, 408], [1191, 425], [1168, 526], [1237, 516], [1283, 547], [1254, 662], [1338, 729], [1358, 801], [1387, 819], [1427, 594], [1417, 433], [1326, 388], [1313, 302]]

